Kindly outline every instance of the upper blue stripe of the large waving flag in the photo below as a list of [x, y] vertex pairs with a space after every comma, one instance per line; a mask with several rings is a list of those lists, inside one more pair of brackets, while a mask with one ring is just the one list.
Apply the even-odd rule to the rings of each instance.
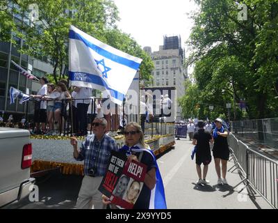
[[131, 61], [129, 59], [126, 59], [122, 56], [117, 56], [115, 54], [112, 54], [111, 52], [106, 51], [105, 49], [102, 49], [101, 47], [90, 43], [88, 40], [83, 38], [79, 33], [74, 32], [72, 29], [70, 30], [70, 39], [75, 39], [75, 40], [81, 40], [87, 47], [90, 47], [92, 50], [97, 52], [99, 55], [106, 57], [107, 59], [110, 59], [111, 61], [114, 61], [116, 63], [120, 63], [124, 66], [127, 66], [129, 68], [132, 68], [134, 70], [138, 70], [140, 67], [140, 63], [136, 63], [136, 61]]

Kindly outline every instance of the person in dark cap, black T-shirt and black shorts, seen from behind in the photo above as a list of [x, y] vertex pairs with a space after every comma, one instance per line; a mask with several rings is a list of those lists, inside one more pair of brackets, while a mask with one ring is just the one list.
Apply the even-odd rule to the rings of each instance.
[[[206, 174], [208, 173], [208, 164], [211, 163], [211, 148], [209, 143], [213, 143], [213, 138], [210, 132], [204, 130], [204, 121], [198, 121], [197, 126], [199, 130], [193, 136], [193, 145], [197, 146], [195, 156], [196, 169], [199, 176], [197, 184], [208, 184], [209, 181], [206, 180]], [[201, 164], [204, 164], [203, 177]]]

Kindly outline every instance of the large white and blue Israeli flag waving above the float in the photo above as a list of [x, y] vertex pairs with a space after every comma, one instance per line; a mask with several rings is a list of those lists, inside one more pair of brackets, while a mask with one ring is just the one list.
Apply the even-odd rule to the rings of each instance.
[[106, 90], [111, 100], [122, 105], [124, 95], [142, 62], [70, 26], [70, 84]]

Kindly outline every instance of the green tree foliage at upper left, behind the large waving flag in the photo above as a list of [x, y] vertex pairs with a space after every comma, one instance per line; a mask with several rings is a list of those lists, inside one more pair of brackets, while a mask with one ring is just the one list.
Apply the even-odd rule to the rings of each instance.
[[[85, 33], [101, 40], [108, 45], [138, 56], [142, 62], [142, 78], [149, 79], [152, 64], [150, 58], [140, 46], [126, 33], [122, 33], [115, 22], [119, 20], [119, 13], [114, 1], [111, 0], [25, 0], [13, 1], [17, 3], [20, 13], [28, 14], [31, 4], [38, 5], [38, 20], [31, 26], [22, 22], [5, 24], [5, 31], [15, 28], [22, 32], [16, 33], [24, 39], [22, 52], [37, 58], [47, 56], [54, 63], [54, 79], [65, 78], [68, 68], [68, 33], [70, 25], [74, 25]], [[11, 13], [6, 16], [13, 18]], [[0, 14], [1, 15], [1, 14]], [[3, 20], [0, 24], [2, 26]], [[1, 30], [0, 30], [1, 31]], [[8, 36], [7, 36], [8, 38]], [[0, 37], [0, 40], [7, 40]]]

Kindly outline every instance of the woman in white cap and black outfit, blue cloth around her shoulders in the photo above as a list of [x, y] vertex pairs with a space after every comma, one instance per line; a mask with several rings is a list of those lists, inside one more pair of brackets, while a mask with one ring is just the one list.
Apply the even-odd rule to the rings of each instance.
[[[227, 137], [229, 136], [229, 130], [224, 128], [222, 125], [222, 119], [215, 119], [215, 129], [213, 130], [213, 157], [215, 162], [215, 170], [218, 175], [218, 185], [228, 184], [226, 175], [227, 175], [227, 162], [229, 160], [229, 146]], [[220, 162], [222, 164], [222, 178], [221, 178], [221, 169]]]

